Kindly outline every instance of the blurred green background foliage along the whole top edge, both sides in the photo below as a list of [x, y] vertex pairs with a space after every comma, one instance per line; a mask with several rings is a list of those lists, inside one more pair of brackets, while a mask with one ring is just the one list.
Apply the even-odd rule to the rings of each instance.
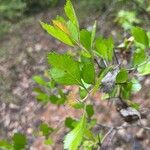
[[[25, 16], [33, 15], [46, 9], [64, 5], [66, 0], [0, 0], [0, 36], [10, 31], [11, 25], [17, 23]], [[125, 30], [133, 25], [143, 23], [139, 16], [150, 12], [149, 0], [72, 0], [78, 8], [80, 15], [107, 14], [117, 16], [116, 21]], [[130, 11], [132, 8], [132, 11]], [[83, 10], [84, 9], [84, 14]], [[92, 13], [91, 13], [92, 12]], [[117, 15], [118, 14], [118, 15]], [[80, 17], [81, 17], [80, 16]], [[143, 18], [143, 17], [141, 17]]]

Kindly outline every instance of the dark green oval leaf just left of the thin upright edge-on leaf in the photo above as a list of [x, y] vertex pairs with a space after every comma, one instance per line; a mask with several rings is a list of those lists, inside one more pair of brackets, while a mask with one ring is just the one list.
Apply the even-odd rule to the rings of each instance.
[[80, 32], [80, 42], [87, 49], [91, 49], [91, 32], [88, 30], [81, 30]]

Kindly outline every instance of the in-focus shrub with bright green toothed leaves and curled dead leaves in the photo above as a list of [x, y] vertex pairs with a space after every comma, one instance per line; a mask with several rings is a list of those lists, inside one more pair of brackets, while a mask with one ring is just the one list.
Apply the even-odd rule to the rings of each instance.
[[[104, 38], [102, 35], [96, 35], [96, 22], [91, 31], [80, 29], [70, 0], [67, 0], [64, 10], [68, 20], [57, 16], [52, 20], [52, 25], [41, 22], [41, 26], [48, 34], [76, 48], [76, 51], [72, 54], [58, 52], [48, 54], [50, 69], [47, 71], [47, 79], [41, 76], [33, 78], [46, 89], [43, 91], [36, 88], [36, 98], [45, 104], [66, 104], [83, 110], [83, 115], [78, 121], [73, 118], [65, 120], [66, 127], [71, 131], [64, 138], [64, 149], [98, 148], [103, 146], [107, 134], [115, 128], [110, 127], [104, 136], [92, 132], [92, 128], [100, 123], [93, 118], [92, 100], [89, 104], [87, 99], [101, 89], [105, 93], [105, 98], [116, 99], [116, 108], [126, 122], [140, 120], [140, 106], [131, 101], [131, 95], [138, 92], [141, 85], [138, 77], [132, 72], [136, 71], [138, 76], [150, 74], [150, 56], [147, 53], [150, 40], [145, 30], [133, 27], [131, 37], [117, 46], [111, 36]], [[130, 61], [127, 64], [122, 63], [123, 60], [119, 57], [121, 54], [116, 52], [116, 48], [124, 50], [125, 53], [131, 51]], [[62, 86], [67, 85], [79, 87], [80, 99], [69, 99], [69, 93], [65, 93], [62, 89]], [[57, 90], [56, 94], [46, 92], [54, 89]]]

